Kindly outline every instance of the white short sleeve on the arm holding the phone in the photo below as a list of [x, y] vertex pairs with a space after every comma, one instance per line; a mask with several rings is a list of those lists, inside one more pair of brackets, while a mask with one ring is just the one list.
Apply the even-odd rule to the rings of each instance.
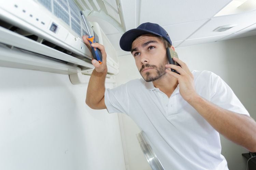
[[216, 74], [211, 77], [211, 102], [229, 111], [250, 116], [232, 89]]

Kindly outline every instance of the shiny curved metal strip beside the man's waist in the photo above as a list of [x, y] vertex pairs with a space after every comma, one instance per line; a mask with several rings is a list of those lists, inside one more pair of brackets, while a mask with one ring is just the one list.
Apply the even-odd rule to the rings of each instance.
[[148, 144], [145, 133], [143, 131], [137, 134], [137, 139], [152, 170], [164, 170], [156, 154], [152, 150], [151, 146]]

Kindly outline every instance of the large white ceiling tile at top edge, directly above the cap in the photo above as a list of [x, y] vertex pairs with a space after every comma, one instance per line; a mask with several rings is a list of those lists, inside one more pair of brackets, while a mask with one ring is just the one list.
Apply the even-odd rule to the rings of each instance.
[[140, 23], [161, 26], [209, 19], [231, 0], [141, 0]]

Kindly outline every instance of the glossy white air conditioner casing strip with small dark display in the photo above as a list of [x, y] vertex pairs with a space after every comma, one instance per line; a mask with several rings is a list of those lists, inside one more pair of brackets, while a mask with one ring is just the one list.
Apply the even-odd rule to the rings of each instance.
[[[75, 33], [67, 23], [47, 11], [38, 2], [10, 0], [1, 4], [1, 10], [1, 18], [14, 26], [90, 59], [90, 51], [81, 38], [82, 33]], [[55, 31], [51, 31], [53, 26], [57, 27], [52, 29]]]

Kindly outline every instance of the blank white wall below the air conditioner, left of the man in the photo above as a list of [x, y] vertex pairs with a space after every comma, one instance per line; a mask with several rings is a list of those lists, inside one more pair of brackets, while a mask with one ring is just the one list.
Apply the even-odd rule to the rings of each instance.
[[125, 170], [117, 114], [85, 93], [68, 75], [0, 67], [0, 169]]

